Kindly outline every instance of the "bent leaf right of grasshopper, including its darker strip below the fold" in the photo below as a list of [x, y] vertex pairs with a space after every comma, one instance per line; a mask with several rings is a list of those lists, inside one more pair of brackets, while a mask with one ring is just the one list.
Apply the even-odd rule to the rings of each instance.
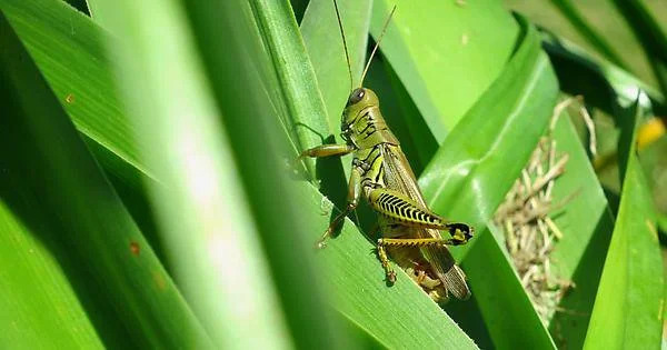
[[504, 242], [485, 230], [542, 134], [558, 90], [537, 31], [524, 19], [519, 23], [517, 51], [445, 139], [419, 184], [434, 211], [477, 229], [477, 237], [452, 253], [460, 260], [469, 251], [462, 267], [494, 344], [554, 348]]

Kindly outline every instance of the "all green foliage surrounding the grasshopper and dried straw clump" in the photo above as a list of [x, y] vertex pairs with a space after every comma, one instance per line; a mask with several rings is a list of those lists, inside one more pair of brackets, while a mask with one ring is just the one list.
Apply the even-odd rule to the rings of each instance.
[[[431, 209], [476, 227], [454, 250], [472, 299], [441, 309], [401, 271], [387, 287], [368, 208], [311, 247], [349, 173], [347, 159], [291, 161], [341, 142], [350, 82], [331, 1], [0, 0], [3, 348], [661, 343], [665, 137], [636, 140], [664, 120], [664, 9], [339, 2], [354, 84], [398, 6], [365, 86]], [[633, 47], [599, 18], [623, 20]], [[598, 136], [616, 162], [596, 169], [563, 112], [554, 196], [578, 194], [555, 216], [554, 269], [577, 287], [544, 324], [492, 217], [577, 93], [611, 121]]]

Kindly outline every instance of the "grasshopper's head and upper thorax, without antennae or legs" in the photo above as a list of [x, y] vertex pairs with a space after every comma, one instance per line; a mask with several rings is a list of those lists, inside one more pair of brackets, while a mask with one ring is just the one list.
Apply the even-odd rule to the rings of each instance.
[[355, 89], [342, 112], [340, 131], [348, 144], [358, 149], [372, 148], [378, 143], [398, 144], [385, 118], [380, 113], [380, 102], [370, 89]]

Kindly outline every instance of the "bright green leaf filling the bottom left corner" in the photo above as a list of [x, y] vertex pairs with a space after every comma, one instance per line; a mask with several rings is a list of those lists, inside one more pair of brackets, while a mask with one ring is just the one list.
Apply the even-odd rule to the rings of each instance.
[[[6, 92], [4, 87], [2, 90]], [[0, 166], [8, 171], [3, 162]], [[0, 179], [6, 186], [13, 184], [8, 176]], [[4, 192], [1, 188], [0, 191]], [[40, 230], [24, 224], [27, 220], [7, 203], [7, 194], [0, 196], [0, 342], [27, 349], [47, 344], [103, 349], [86, 316], [86, 306], [77, 298], [57, 257], [41, 242]], [[40, 281], [43, 282], [36, 283]], [[29, 300], [26, 296], [30, 296]], [[63, 327], [77, 332], [63, 332]]]

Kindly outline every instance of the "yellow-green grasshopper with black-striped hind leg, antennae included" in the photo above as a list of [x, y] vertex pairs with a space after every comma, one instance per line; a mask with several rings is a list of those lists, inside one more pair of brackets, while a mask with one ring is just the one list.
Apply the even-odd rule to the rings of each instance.
[[[338, 26], [352, 84], [350, 59], [338, 3], [334, 0]], [[461, 222], [449, 222], [434, 213], [419, 190], [415, 173], [404, 154], [400, 142], [385, 122], [376, 93], [362, 87], [372, 57], [396, 10], [387, 18], [364, 73], [359, 88], [351, 86], [347, 106], [340, 121], [345, 144], [321, 144], [300, 153], [305, 157], [331, 157], [352, 153], [352, 169], [348, 186], [347, 207], [329, 224], [318, 241], [326, 240], [338, 224], [357, 208], [360, 197], [379, 214], [377, 253], [389, 284], [396, 282], [396, 272], [389, 264], [391, 257], [437, 302], [447, 300], [449, 293], [468, 299], [470, 290], [466, 276], [456, 264], [447, 246], [466, 243], [474, 228]], [[440, 231], [451, 238], [444, 239]]]

